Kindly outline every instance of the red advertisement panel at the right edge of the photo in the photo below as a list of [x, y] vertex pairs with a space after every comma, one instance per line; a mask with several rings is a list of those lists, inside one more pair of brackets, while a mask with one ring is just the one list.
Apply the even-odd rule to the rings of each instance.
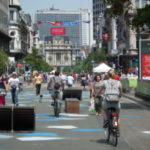
[[150, 54], [142, 54], [142, 78], [150, 80]]

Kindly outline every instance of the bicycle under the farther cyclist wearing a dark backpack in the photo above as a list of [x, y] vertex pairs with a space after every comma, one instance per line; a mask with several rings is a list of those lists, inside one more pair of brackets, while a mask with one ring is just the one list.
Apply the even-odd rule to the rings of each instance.
[[59, 117], [59, 113], [60, 113], [60, 110], [61, 110], [61, 101], [60, 101], [59, 97], [60, 97], [60, 91], [55, 90], [54, 95], [53, 95], [54, 103], [52, 104], [52, 106], [54, 108], [54, 115], [56, 117]]

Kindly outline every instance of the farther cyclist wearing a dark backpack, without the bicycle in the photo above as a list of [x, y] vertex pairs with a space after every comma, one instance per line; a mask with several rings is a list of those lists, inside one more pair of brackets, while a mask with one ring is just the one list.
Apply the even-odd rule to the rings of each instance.
[[[57, 98], [59, 100], [62, 99], [61, 92], [64, 89], [64, 84], [63, 84], [63, 80], [61, 79], [59, 74], [60, 73], [56, 71], [55, 76], [50, 78], [50, 80], [48, 82], [48, 86], [47, 86], [47, 89], [51, 93], [53, 100], [55, 100], [56, 96], [58, 96]], [[58, 95], [56, 95], [56, 94], [58, 94]]]

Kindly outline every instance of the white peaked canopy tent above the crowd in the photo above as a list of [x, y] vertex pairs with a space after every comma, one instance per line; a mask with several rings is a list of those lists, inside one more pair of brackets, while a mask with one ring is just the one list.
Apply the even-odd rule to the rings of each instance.
[[108, 72], [110, 69], [112, 68], [106, 65], [105, 63], [101, 63], [97, 67], [93, 68], [93, 72], [94, 73]]

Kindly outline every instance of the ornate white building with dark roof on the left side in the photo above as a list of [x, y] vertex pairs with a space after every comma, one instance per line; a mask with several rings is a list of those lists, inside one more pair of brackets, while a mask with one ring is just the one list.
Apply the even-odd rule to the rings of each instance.
[[31, 20], [21, 11], [20, 0], [10, 0], [9, 17], [10, 56], [17, 61], [31, 51]]

